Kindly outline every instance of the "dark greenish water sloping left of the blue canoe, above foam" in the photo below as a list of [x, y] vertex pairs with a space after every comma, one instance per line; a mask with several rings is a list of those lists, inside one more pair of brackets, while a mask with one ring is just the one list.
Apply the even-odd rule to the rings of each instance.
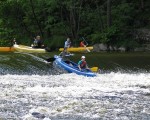
[[0, 53], [0, 74], [53, 74], [51, 68], [38, 55]]

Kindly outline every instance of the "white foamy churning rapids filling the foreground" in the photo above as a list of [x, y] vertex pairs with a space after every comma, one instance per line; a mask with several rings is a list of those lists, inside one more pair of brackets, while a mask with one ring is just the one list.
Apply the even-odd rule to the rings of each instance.
[[0, 91], [0, 119], [150, 119], [150, 73], [3, 75]]

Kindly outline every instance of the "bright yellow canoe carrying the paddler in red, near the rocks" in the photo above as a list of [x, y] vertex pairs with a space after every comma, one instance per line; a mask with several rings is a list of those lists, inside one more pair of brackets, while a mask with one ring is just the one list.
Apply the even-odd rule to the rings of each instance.
[[[63, 51], [64, 48], [59, 48], [59, 51]], [[93, 50], [93, 47], [90, 46], [90, 47], [71, 47], [71, 48], [68, 48], [67, 51], [69, 52], [84, 52], [84, 51], [91, 51]]]

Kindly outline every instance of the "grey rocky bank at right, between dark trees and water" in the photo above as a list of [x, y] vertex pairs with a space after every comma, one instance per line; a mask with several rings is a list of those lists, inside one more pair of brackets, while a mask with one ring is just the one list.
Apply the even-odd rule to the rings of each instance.
[[134, 39], [134, 42], [137, 43], [137, 45], [134, 45], [133, 43], [130, 45], [124, 45], [128, 47], [124, 47], [123, 45], [120, 47], [117, 47], [117, 45], [108, 45], [103, 43], [95, 44], [93, 47], [93, 51], [100, 52], [100, 51], [150, 51], [150, 29], [136, 29], [133, 30], [131, 33]]

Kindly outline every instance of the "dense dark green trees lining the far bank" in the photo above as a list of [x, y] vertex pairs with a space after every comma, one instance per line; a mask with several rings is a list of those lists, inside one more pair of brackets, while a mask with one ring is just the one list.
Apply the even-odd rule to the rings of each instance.
[[150, 28], [149, 0], [0, 0], [0, 40], [14, 37], [31, 44], [41, 35], [60, 47], [66, 37], [73, 45], [83, 36], [90, 44], [133, 47], [134, 33]]

